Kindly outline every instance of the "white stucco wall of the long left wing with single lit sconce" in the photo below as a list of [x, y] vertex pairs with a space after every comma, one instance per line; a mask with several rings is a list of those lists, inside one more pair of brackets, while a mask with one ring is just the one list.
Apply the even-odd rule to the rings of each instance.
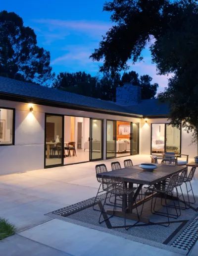
[[[26, 172], [44, 168], [45, 113], [62, 114], [94, 119], [104, 119], [104, 159], [106, 139], [106, 119], [140, 123], [140, 119], [104, 115], [99, 113], [62, 109], [41, 105], [33, 106], [30, 113], [28, 103], [0, 100], [0, 107], [15, 109], [15, 145], [0, 146], [0, 175]], [[83, 121], [83, 119], [79, 119]], [[65, 117], [65, 123], [67, 117]], [[84, 122], [84, 121], [83, 121]], [[86, 119], [86, 137], [89, 138], [89, 119]], [[84, 130], [84, 128], [83, 128]]]

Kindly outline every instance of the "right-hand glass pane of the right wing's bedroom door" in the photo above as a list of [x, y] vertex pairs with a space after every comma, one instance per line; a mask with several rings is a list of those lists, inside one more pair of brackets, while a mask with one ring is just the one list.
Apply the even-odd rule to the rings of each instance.
[[180, 153], [180, 129], [166, 126], [166, 152]]

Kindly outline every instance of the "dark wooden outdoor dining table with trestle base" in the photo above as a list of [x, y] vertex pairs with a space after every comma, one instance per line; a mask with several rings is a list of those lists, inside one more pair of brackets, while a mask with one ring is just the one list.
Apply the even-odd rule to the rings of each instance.
[[[182, 172], [186, 166], [173, 166], [173, 165], [163, 165], [163, 164], [156, 164], [157, 169], [155, 169], [152, 172], [144, 171], [142, 168], [139, 167], [139, 165], [114, 170], [110, 172], [104, 172], [101, 174], [97, 174], [97, 177], [101, 178], [102, 176], [108, 177], [120, 177], [123, 179], [125, 186], [127, 187], [127, 184], [129, 184], [129, 188], [133, 188], [133, 184], [138, 184], [138, 188], [134, 193], [134, 196], [132, 194], [129, 195], [129, 201], [128, 207], [127, 207], [127, 213], [126, 218], [132, 219], [132, 220], [138, 220], [138, 216], [134, 213], [132, 213], [132, 210], [134, 208], [133, 204], [135, 203], [138, 194], [140, 193], [143, 185], [154, 185], [159, 182], [165, 181], [167, 178], [170, 178], [173, 174]], [[151, 198], [151, 195], [146, 196], [146, 200]], [[142, 204], [144, 199], [136, 201], [137, 206]], [[124, 217], [124, 199], [122, 200], [122, 210], [115, 210], [114, 216], [117, 217]], [[106, 214], [113, 215], [113, 210], [109, 209], [106, 211]], [[149, 218], [140, 216], [140, 221], [148, 223]]]

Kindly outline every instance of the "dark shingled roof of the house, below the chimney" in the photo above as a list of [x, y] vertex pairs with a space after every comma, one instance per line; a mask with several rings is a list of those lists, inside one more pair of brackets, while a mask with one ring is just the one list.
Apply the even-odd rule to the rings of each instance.
[[[83, 95], [52, 89], [49, 87], [22, 82], [0, 76], [0, 94], [10, 96], [29, 97], [38, 100], [47, 100], [48, 102], [56, 102], [82, 106], [87, 108], [95, 108], [98, 110], [106, 110], [112, 112], [120, 112], [134, 115], [167, 115], [168, 108], [166, 105], [157, 105], [157, 100], [143, 100], [140, 104], [134, 106], [119, 106], [114, 102], [99, 100]], [[113, 113], [112, 113], [113, 114]]]

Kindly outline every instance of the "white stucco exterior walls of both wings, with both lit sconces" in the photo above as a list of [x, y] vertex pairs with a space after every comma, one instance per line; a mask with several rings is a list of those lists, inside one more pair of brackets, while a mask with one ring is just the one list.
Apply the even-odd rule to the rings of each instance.
[[[44, 168], [45, 145], [45, 113], [62, 114], [93, 119], [103, 119], [104, 141], [103, 159], [106, 157], [106, 120], [117, 120], [140, 123], [140, 154], [150, 155], [151, 123], [169, 123], [166, 119], [144, 119], [104, 115], [99, 113], [34, 105], [30, 113], [29, 104], [0, 100], [0, 107], [14, 108], [15, 115], [15, 145], [0, 146], [0, 175], [25, 172]], [[86, 129], [85, 141], [89, 137], [89, 119], [83, 121]], [[67, 123], [67, 117], [65, 117]], [[68, 123], [67, 123], [68, 124]], [[197, 155], [197, 146], [189, 145], [191, 134], [182, 130], [182, 153], [190, 157]]]

